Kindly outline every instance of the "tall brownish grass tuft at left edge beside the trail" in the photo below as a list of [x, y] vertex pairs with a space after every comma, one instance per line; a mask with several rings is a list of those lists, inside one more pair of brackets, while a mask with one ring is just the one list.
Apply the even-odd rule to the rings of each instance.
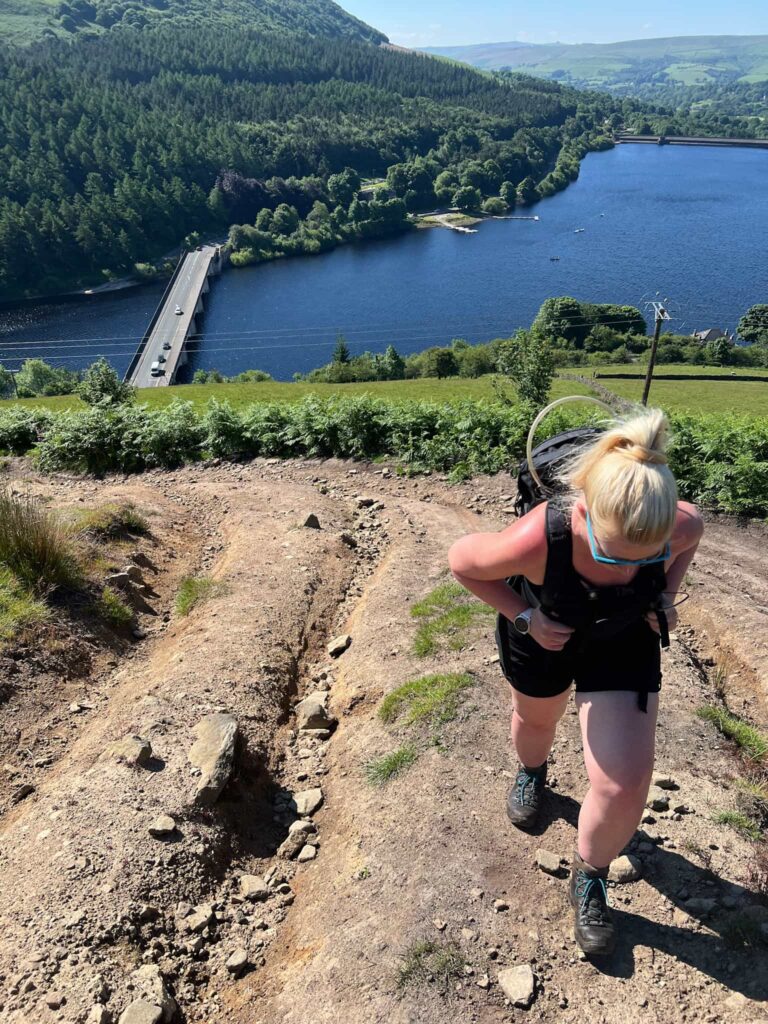
[[0, 565], [43, 595], [76, 587], [82, 569], [69, 530], [31, 495], [0, 490]]

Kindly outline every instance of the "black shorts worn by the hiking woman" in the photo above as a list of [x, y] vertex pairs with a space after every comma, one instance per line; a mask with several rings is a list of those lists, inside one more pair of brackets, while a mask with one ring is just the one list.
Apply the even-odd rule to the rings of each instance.
[[575, 634], [562, 650], [545, 650], [499, 615], [496, 642], [502, 672], [516, 690], [529, 697], [556, 696], [573, 682], [578, 693], [632, 690], [645, 694], [662, 688], [660, 638], [644, 618], [611, 637], [585, 642]]

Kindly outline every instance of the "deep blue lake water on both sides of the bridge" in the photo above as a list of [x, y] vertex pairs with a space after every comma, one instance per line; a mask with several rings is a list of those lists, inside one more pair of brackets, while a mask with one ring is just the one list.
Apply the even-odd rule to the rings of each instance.
[[[337, 332], [353, 353], [486, 341], [529, 325], [554, 295], [640, 307], [666, 298], [673, 331], [734, 330], [768, 301], [767, 186], [768, 151], [620, 145], [590, 154], [565, 191], [516, 211], [537, 222], [419, 230], [230, 269], [212, 284], [183, 379], [215, 367], [290, 380], [328, 361]], [[81, 367], [104, 354], [123, 372], [162, 291], [0, 313], [0, 361]]]

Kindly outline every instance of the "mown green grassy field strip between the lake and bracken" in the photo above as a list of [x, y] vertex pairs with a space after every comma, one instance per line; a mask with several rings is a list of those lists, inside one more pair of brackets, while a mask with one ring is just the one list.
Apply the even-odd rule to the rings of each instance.
[[[564, 373], [592, 377], [599, 373], [642, 373], [641, 367], [577, 367]], [[664, 366], [659, 373], [686, 375], [713, 375], [722, 373], [714, 367]], [[730, 373], [730, 371], [726, 371]], [[699, 413], [750, 413], [768, 415], [768, 371], [736, 370], [732, 381], [654, 381], [650, 392], [651, 404], [670, 411], [689, 410]], [[764, 375], [766, 383], [739, 382], [745, 374]], [[638, 380], [601, 380], [599, 383], [623, 398], [639, 400], [643, 382]], [[567, 394], [589, 394], [586, 385], [575, 381], [557, 379], [552, 388], [552, 398]], [[232, 406], [246, 406], [253, 401], [299, 401], [307, 395], [371, 394], [390, 401], [456, 401], [462, 398], [493, 399], [493, 378], [479, 377], [465, 380], [449, 377], [444, 380], [424, 378], [410, 381], [370, 381], [365, 384], [294, 384], [266, 381], [262, 384], [185, 384], [178, 387], [145, 388], [138, 392], [138, 400], [147, 406], [167, 406], [174, 399], [193, 401], [202, 408], [209, 398], [226, 399]], [[0, 402], [0, 409], [15, 404], [14, 399]], [[47, 409], [82, 409], [83, 403], [73, 395], [55, 398], [23, 398], [23, 406], [43, 406]]]

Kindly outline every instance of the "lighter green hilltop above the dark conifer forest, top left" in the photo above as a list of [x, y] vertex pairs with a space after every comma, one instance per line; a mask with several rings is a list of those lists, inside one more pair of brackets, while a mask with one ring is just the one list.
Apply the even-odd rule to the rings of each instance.
[[101, 34], [115, 26], [161, 22], [307, 33], [386, 43], [387, 37], [332, 0], [0, 0], [0, 39], [30, 43], [43, 36]]

